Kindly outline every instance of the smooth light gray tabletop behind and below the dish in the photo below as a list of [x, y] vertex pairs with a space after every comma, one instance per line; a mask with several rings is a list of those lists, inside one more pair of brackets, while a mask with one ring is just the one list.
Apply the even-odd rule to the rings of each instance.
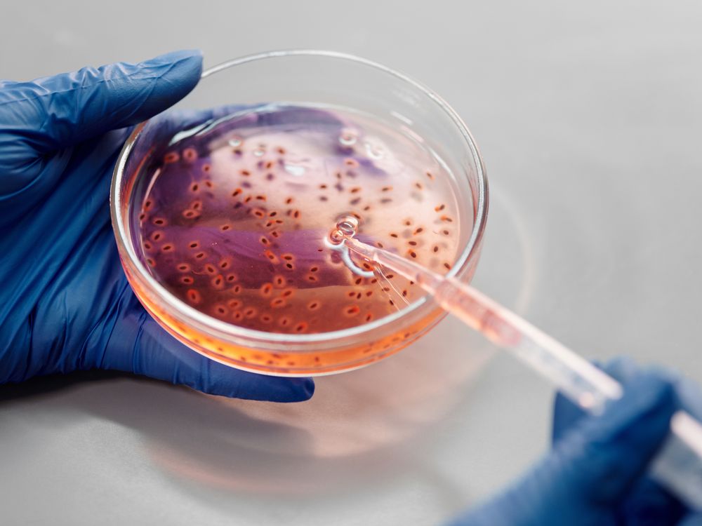
[[[702, 381], [696, 1], [13, 2], [0, 76], [330, 48], [428, 84], [491, 182], [475, 285], [585, 356]], [[0, 403], [6, 524], [430, 525], [548, 445], [552, 390], [447, 320], [277, 405], [131, 377]]]

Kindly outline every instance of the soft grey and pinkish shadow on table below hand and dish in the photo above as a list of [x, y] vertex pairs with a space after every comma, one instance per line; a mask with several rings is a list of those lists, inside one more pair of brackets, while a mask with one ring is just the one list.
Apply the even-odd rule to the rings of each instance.
[[[92, 371], [4, 386], [0, 407], [41, 403], [57, 419], [88, 413], [133, 429], [147, 461], [191, 490], [194, 484], [249, 497], [318, 496], [426, 469], [428, 438], [489, 356], [479, 339], [475, 353], [465, 341], [460, 323], [442, 323], [373, 367], [318, 378], [305, 403], [207, 396]], [[440, 353], [439, 345], [446, 347]]]

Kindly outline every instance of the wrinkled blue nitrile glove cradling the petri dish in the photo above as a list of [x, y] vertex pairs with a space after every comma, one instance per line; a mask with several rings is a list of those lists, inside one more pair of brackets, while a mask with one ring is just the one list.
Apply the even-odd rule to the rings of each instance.
[[291, 402], [310, 379], [254, 375], [187, 349], [145, 312], [107, 202], [126, 126], [184, 97], [198, 51], [0, 81], [0, 384], [102, 368], [206, 393]]

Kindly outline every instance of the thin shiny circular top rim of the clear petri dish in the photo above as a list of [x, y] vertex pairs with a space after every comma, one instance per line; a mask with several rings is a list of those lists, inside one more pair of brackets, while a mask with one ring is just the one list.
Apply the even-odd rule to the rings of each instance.
[[[470, 238], [468, 239], [468, 243], [466, 243], [465, 248], [461, 252], [461, 255], [456, 260], [456, 263], [454, 263], [453, 267], [451, 267], [449, 272], [446, 273], [446, 276], [459, 276], [467, 266], [468, 262], [470, 262], [471, 256], [473, 255], [475, 249], [479, 248], [480, 246], [480, 241], [484, 234], [485, 223], [487, 218], [489, 193], [486, 170], [482, 160], [482, 156], [480, 155], [477, 144], [475, 143], [475, 139], [472, 137], [472, 134], [470, 133], [470, 130], [468, 130], [468, 127], [465, 126], [463, 119], [461, 119], [461, 117], [458, 116], [458, 114], [453, 110], [453, 108], [451, 108], [448, 102], [443, 100], [442, 97], [437, 95], [437, 93], [425, 86], [423, 83], [420, 83], [412, 79], [411, 77], [406, 76], [405, 74], [397, 72], [395, 69], [378, 64], [378, 62], [373, 62], [372, 60], [368, 60], [366, 58], [361, 58], [357, 57], [356, 55], [350, 55], [348, 53], [341, 53], [338, 51], [293, 49], [273, 50], [266, 51], [263, 53], [255, 53], [253, 55], [245, 55], [240, 58], [235, 58], [232, 60], [221, 62], [218, 65], [204, 70], [204, 72], [201, 73], [200, 78], [206, 79], [208, 76], [220, 72], [223, 69], [227, 69], [229, 67], [234, 67], [241, 64], [246, 64], [247, 62], [253, 62], [256, 60], [266, 60], [270, 58], [284, 58], [287, 56], [319, 56], [326, 58], [336, 58], [340, 60], [349, 60], [350, 62], [356, 62], [358, 64], [379, 69], [381, 72], [390, 74], [392, 76], [395, 76], [397, 79], [409, 83], [421, 93], [428, 96], [430, 100], [432, 100], [432, 102], [434, 102], [442, 112], [449, 116], [449, 119], [451, 119], [453, 124], [458, 129], [458, 132], [461, 133], [463, 140], [465, 140], [465, 143], [468, 145], [468, 149], [470, 150], [470, 153], [473, 157], [473, 161], [475, 162], [475, 166], [477, 167], [477, 208], [475, 208], [475, 221], [473, 222], [473, 227], [470, 234]], [[194, 89], [197, 89], [197, 86]], [[181, 301], [180, 299], [178, 299], [178, 297], [171, 294], [171, 292], [168, 292], [168, 290], [163, 285], [158, 283], [158, 281], [156, 281], [156, 279], [154, 279], [153, 276], [149, 274], [147, 269], [144, 267], [143, 263], [137, 257], [132, 244], [128, 241], [125, 242], [125, 240], [130, 240], [131, 236], [129, 235], [128, 229], [124, 224], [124, 220], [122, 219], [120, 213], [123, 197], [121, 192], [121, 183], [122, 178], [124, 176], [124, 168], [126, 165], [126, 161], [129, 157], [129, 154], [131, 153], [131, 149], [134, 143], [138, 140], [141, 130], [143, 130], [147, 122], [148, 121], [145, 121], [135, 126], [134, 130], [124, 143], [124, 147], [122, 148], [119, 154], [119, 158], [117, 159], [117, 163], [114, 166], [112, 184], [110, 187], [110, 214], [112, 216], [112, 224], [114, 225], [114, 230], [117, 232], [117, 243], [122, 249], [121, 251], [125, 252], [128, 256], [128, 261], [126, 262], [126, 264], [128, 264], [128, 266], [131, 267], [131, 270], [137, 274], [138, 279], [140, 281], [148, 285], [148, 287], [152, 291], [157, 293], [158, 297], [161, 298], [161, 300], [164, 300], [164, 302], [166, 302], [168, 309], [176, 311], [178, 315], [196, 322], [201, 327], [216, 331], [220, 336], [232, 337], [234, 339], [246, 338], [257, 341], [267, 341], [276, 344], [299, 345], [306, 343], [314, 344], [322, 342], [333, 342], [336, 340], [361, 336], [366, 332], [372, 332], [373, 330], [383, 328], [385, 325], [390, 325], [392, 323], [395, 323], [396, 321], [401, 320], [402, 318], [405, 318], [406, 316], [409, 316], [409, 314], [417, 311], [422, 306], [427, 304], [430, 300], [429, 296], [425, 295], [412, 302], [411, 304], [405, 306], [403, 309], [400, 309], [395, 313], [389, 314], [388, 316], [384, 316], [383, 318], [379, 318], [376, 321], [364, 323], [363, 325], [357, 325], [355, 327], [346, 328], [342, 330], [333, 330], [329, 332], [315, 332], [307, 335], [265, 332], [262, 330], [239, 327], [239, 325], [226, 323], [225, 321], [220, 321], [217, 318], [208, 316], [206, 313], [201, 312], [195, 309], [194, 307], [186, 304], [185, 302]]]

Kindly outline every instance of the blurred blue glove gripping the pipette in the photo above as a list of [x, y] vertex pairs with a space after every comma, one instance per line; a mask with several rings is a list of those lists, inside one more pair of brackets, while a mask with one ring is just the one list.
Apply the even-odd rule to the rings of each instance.
[[[649, 476], [670, 417], [698, 414], [702, 395], [662, 370], [640, 370], [620, 359], [605, 367], [624, 396], [592, 417], [559, 395], [553, 446], [505, 492], [452, 524], [458, 526], [702, 525]], [[692, 407], [691, 407], [692, 406]], [[517, 437], [515, 437], [517, 439]]]

